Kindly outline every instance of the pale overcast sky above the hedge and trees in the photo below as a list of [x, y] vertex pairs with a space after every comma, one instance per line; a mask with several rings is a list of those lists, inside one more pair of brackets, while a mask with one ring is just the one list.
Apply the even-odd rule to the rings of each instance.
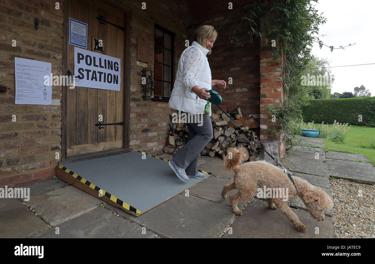
[[[344, 66], [353, 64], [375, 63], [375, 1], [373, 0], [319, 0], [315, 9], [318, 14], [323, 12], [327, 22], [319, 27], [319, 36], [328, 46], [347, 46], [342, 49], [334, 49], [315, 43], [312, 53], [319, 58], [331, 60], [330, 66]], [[332, 84], [333, 92], [353, 92], [354, 87], [364, 85], [369, 89], [371, 96], [375, 96], [375, 64], [363, 66], [331, 68], [335, 76]]]

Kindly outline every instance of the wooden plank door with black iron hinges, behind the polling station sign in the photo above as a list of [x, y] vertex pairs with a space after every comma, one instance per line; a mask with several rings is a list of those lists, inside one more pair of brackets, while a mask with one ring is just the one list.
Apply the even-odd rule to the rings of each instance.
[[[68, 19], [87, 23], [87, 50], [92, 49], [92, 38], [103, 40], [102, 54], [121, 59], [120, 91], [75, 87], [66, 89], [66, 157], [123, 148], [123, 132], [127, 131], [123, 119], [124, 109], [124, 30], [114, 25], [100, 24], [97, 17], [125, 27], [126, 15], [104, 1], [69, 0]], [[69, 22], [68, 22], [69, 23]], [[69, 37], [69, 33], [65, 33]], [[95, 45], [94, 45], [95, 46]], [[74, 70], [74, 45], [67, 44], [67, 69]], [[126, 55], [126, 54], [125, 54]], [[95, 124], [102, 115], [104, 123], [124, 122], [123, 126], [108, 125], [98, 129]]]

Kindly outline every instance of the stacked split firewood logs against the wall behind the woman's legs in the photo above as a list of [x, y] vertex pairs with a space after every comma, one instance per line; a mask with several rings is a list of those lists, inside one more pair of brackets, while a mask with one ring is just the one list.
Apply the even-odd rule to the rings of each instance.
[[[217, 153], [223, 159], [227, 155], [227, 149], [230, 147], [243, 146], [247, 150], [247, 156], [245, 161], [254, 161], [255, 158], [260, 154], [260, 148], [246, 136], [248, 133], [251, 134], [252, 138], [261, 145], [258, 137], [255, 135], [255, 129], [259, 127], [259, 124], [254, 120], [253, 117], [248, 117], [246, 112], [241, 108], [226, 110], [229, 116], [242, 128], [240, 129], [231, 121], [228, 116], [225, 115], [221, 110], [212, 112], [211, 122], [213, 126], [213, 138], [201, 151], [201, 155], [209, 155], [214, 157]], [[172, 121], [172, 116], [171, 121]], [[166, 154], [174, 155], [182, 146], [187, 142], [189, 138], [189, 130], [186, 124], [178, 122], [170, 122], [171, 131], [167, 140], [167, 145], [164, 147]]]

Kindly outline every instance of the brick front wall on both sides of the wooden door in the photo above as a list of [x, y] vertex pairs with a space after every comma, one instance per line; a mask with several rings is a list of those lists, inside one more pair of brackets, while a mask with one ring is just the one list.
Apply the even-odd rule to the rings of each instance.
[[[52, 86], [51, 106], [16, 105], [14, 57], [52, 63], [52, 74], [62, 75], [63, 1], [0, 0], [0, 186], [21, 186], [56, 175], [61, 159], [62, 87]], [[163, 152], [169, 132], [168, 101], [142, 101], [141, 70], [154, 69], [154, 23], [176, 33], [174, 65], [185, 49], [191, 16], [184, 1], [118, 1], [132, 9], [130, 48], [130, 146], [151, 154]], [[160, 15], [160, 10], [163, 14]], [[34, 19], [39, 19], [39, 29]], [[137, 39], [148, 42], [147, 64], [137, 61]], [[17, 42], [12, 47], [12, 40]], [[173, 80], [177, 67], [173, 69]], [[12, 115], [17, 122], [12, 122]], [[55, 159], [58, 152], [60, 159]]]

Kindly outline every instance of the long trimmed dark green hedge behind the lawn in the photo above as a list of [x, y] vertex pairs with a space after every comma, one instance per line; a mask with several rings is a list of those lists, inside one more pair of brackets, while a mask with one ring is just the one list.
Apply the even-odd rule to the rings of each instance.
[[[375, 97], [357, 97], [341, 99], [311, 99], [310, 105], [303, 106], [303, 121], [332, 124], [366, 125], [375, 127]], [[358, 115], [362, 115], [359, 122]]]

